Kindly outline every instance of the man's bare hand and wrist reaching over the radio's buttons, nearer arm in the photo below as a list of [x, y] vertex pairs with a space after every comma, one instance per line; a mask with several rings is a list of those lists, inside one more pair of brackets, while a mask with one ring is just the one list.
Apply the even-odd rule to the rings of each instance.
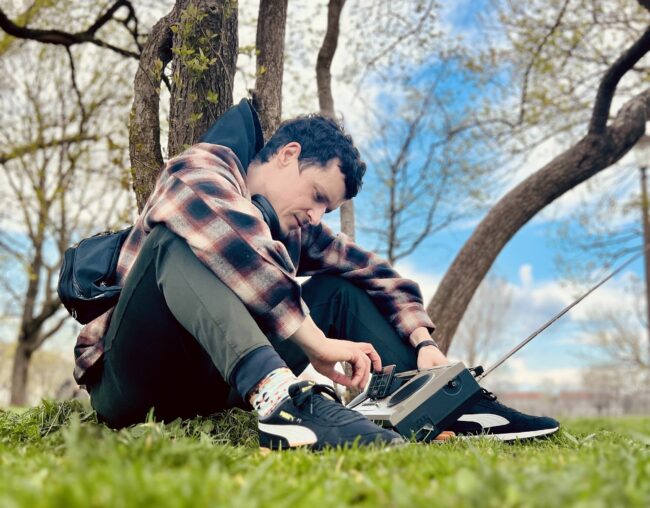
[[[370, 369], [381, 370], [381, 358], [372, 344], [329, 339], [309, 316], [290, 339], [301, 347], [317, 372], [343, 386], [363, 390], [370, 379]], [[348, 362], [352, 376], [337, 371], [337, 362]]]

